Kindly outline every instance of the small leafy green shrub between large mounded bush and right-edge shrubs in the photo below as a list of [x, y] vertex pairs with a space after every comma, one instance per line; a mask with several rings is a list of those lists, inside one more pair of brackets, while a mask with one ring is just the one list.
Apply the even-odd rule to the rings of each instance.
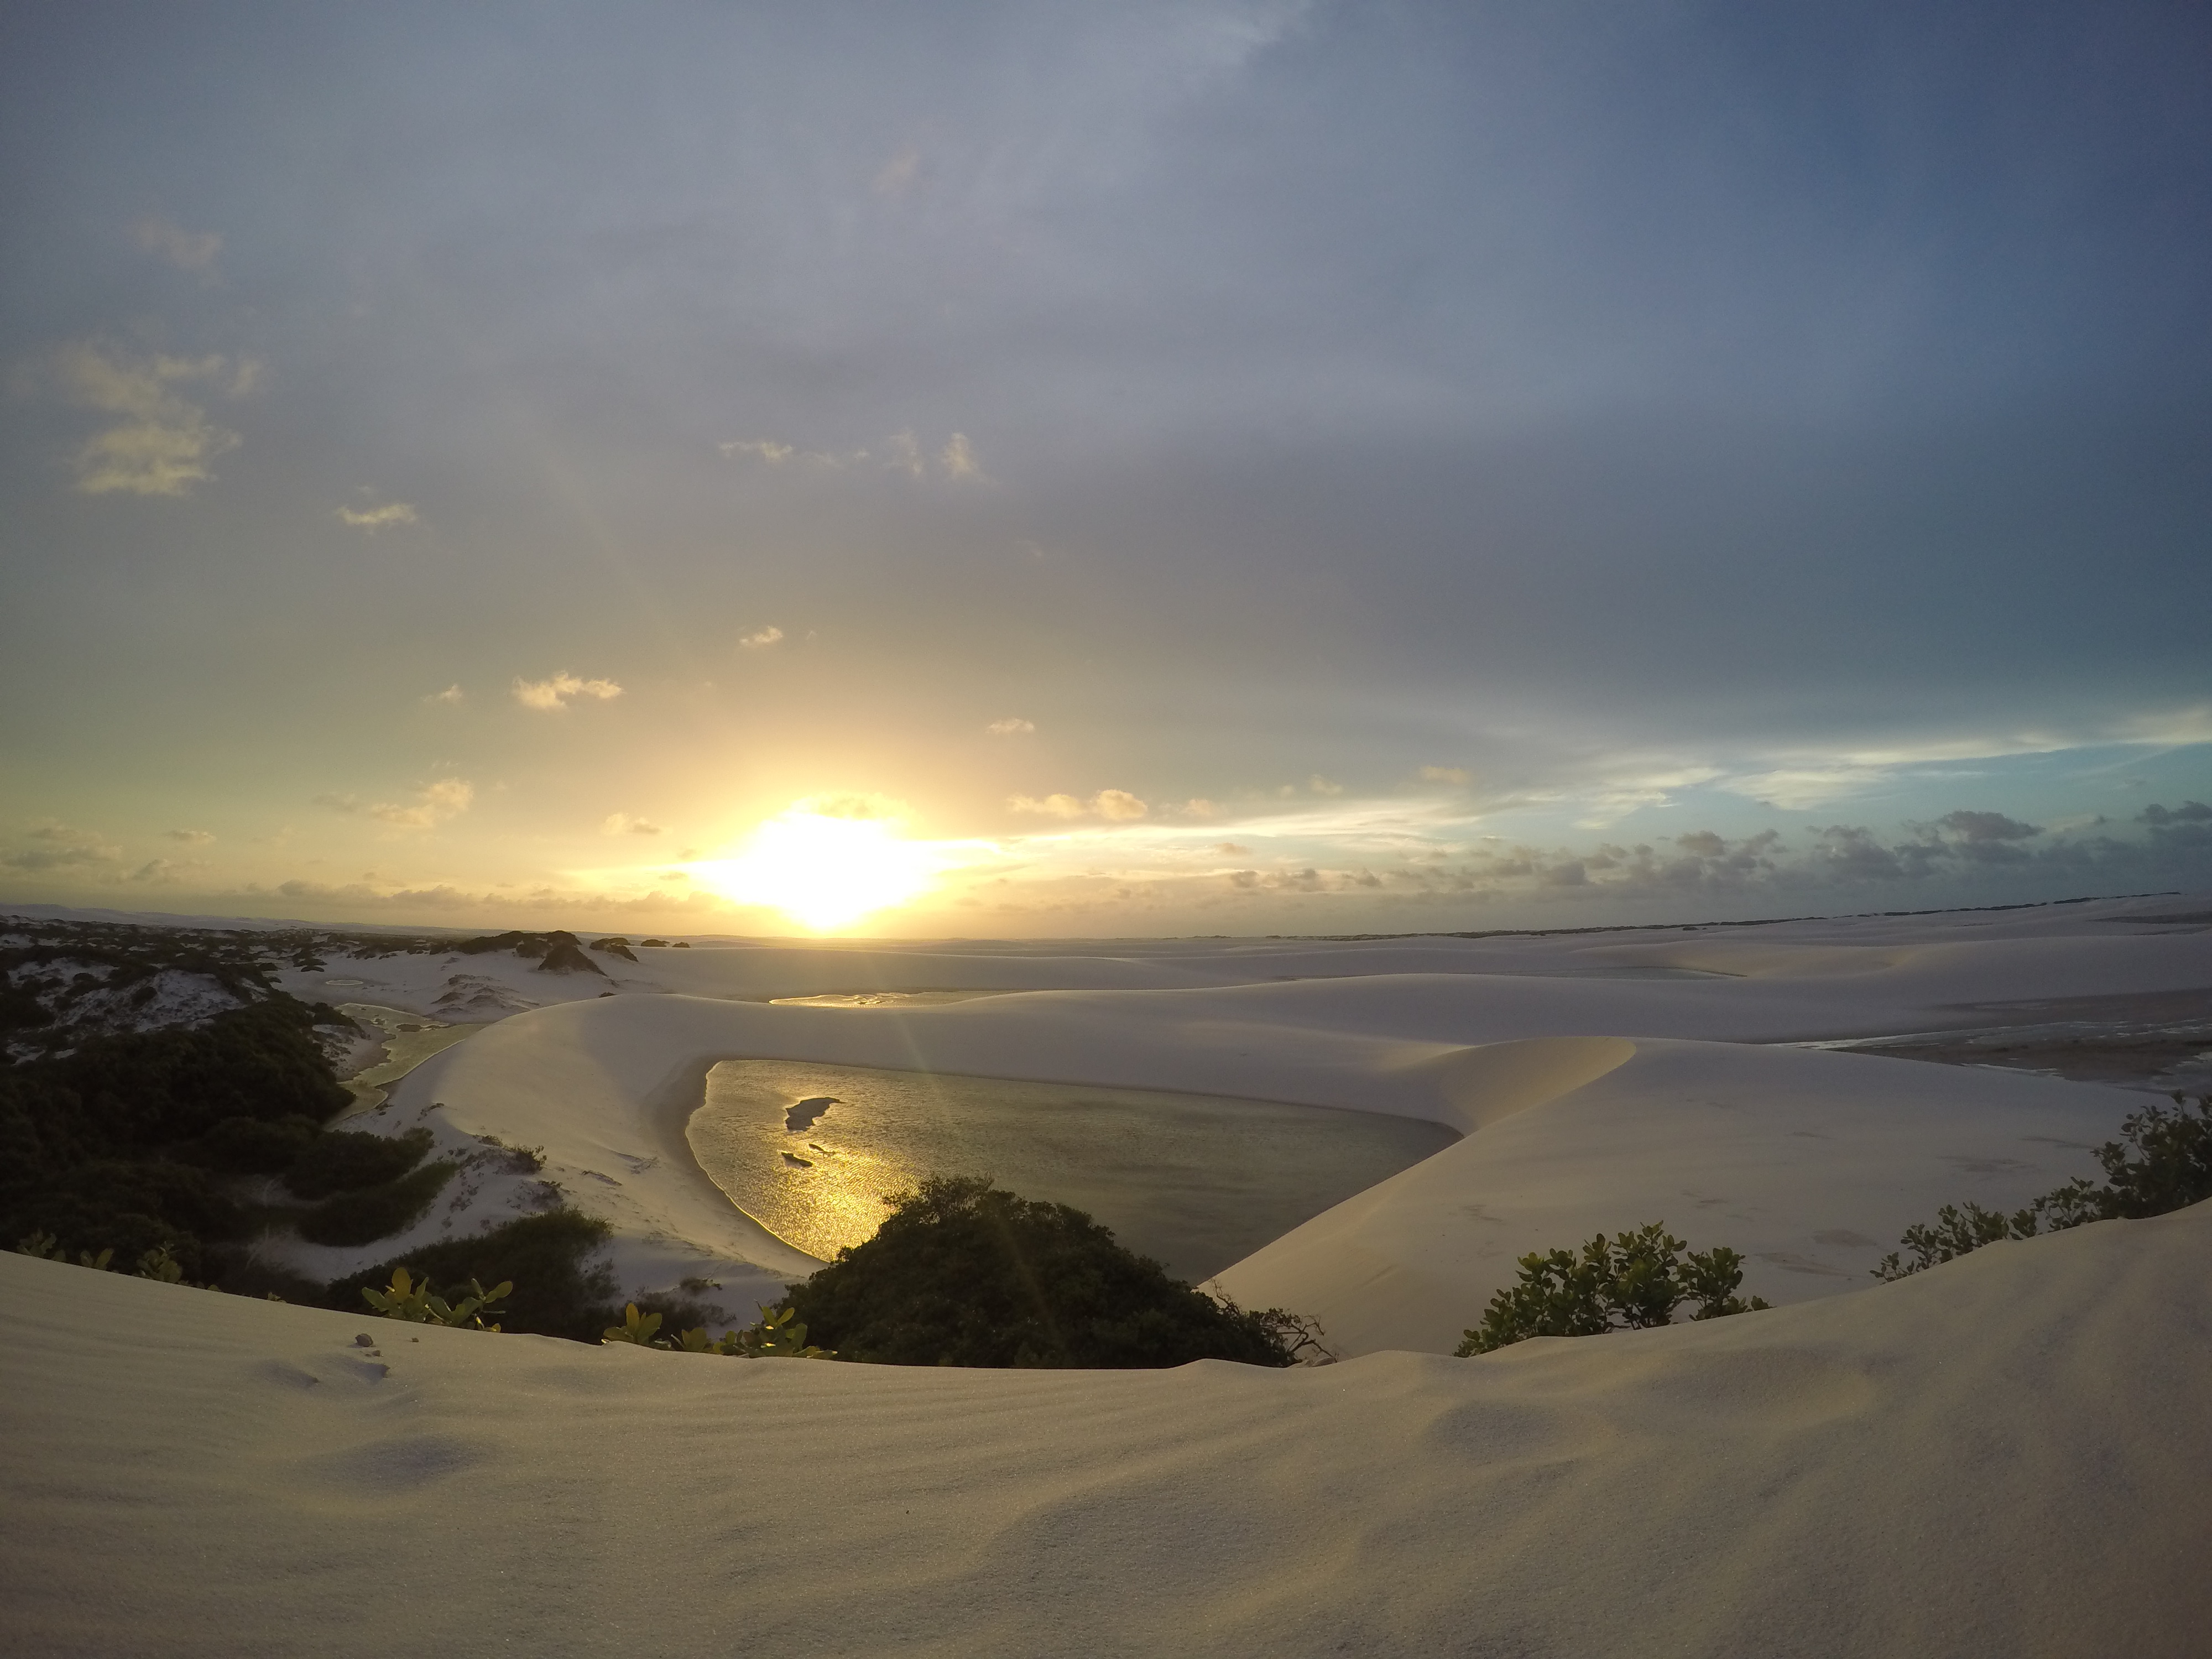
[[1531, 1336], [1601, 1336], [1674, 1323], [1674, 1310], [1697, 1303], [1690, 1318], [1723, 1318], [1765, 1307], [1743, 1301], [1743, 1256], [1728, 1245], [1690, 1250], [1652, 1221], [1637, 1232], [1597, 1234], [1577, 1256], [1551, 1250], [1520, 1259], [1520, 1281], [1482, 1310], [1482, 1325], [1464, 1334], [1460, 1358], [1491, 1354]]

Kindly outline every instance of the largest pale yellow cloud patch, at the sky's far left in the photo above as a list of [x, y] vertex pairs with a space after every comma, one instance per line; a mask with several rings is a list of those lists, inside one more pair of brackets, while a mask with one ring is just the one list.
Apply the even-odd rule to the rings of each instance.
[[239, 434], [208, 420], [177, 385], [223, 380], [232, 396], [250, 389], [259, 365], [223, 356], [133, 358], [104, 345], [71, 345], [55, 358], [62, 394], [80, 409], [122, 416], [75, 453], [77, 489], [86, 495], [186, 495], [215, 473], [208, 462], [239, 447]]

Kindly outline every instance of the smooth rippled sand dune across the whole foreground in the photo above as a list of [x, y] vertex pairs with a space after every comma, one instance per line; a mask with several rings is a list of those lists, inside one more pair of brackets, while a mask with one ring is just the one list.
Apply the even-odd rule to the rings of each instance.
[[0, 1254], [0, 1646], [2181, 1659], [2208, 1274], [2197, 1206], [1482, 1360], [1013, 1374], [416, 1343]]

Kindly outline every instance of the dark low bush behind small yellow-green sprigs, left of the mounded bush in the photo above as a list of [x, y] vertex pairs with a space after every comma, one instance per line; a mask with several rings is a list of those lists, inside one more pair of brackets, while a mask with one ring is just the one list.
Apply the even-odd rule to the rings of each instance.
[[597, 1217], [546, 1210], [491, 1232], [445, 1239], [363, 1267], [332, 1281], [323, 1301], [327, 1307], [356, 1314], [363, 1305], [361, 1292], [389, 1285], [394, 1267], [407, 1267], [414, 1276], [440, 1285], [471, 1279], [498, 1285], [511, 1279], [515, 1292], [500, 1305], [502, 1329], [597, 1343], [599, 1332], [622, 1318], [622, 1307], [613, 1303], [613, 1272], [586, 1265], [608, 1234], [611, 1228]]

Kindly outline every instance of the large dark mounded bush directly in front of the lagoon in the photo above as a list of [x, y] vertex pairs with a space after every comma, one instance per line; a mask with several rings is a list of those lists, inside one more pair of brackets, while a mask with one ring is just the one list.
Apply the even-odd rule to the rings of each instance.
[[781, 1310], [838, 1358], [878, 1365], [1148, 1369], [1290, 1365], [1281, 1323], [1201, 1296], [1082, 1210], [931, 1177], [874, 1239], [792, 1285]]

